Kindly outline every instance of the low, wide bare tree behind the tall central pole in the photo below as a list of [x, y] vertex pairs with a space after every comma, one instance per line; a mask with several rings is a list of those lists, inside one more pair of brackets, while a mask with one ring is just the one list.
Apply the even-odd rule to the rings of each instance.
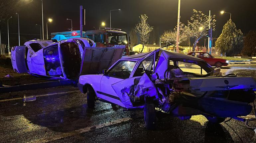
[[[187, 33], [184, 33], [184, 27], [185, 24], [180, 23], [180, 36], [179, 36], [179, 42], [182, 43], [184, 41], [186, 41], [189, 36]], [[161, 39], [163, 42], [167, 43], [167, 44], [173, 44], [174, 46], [176, 46], [176, 36], [177, 36], [177, 27], [174, 28], [174, 30], [167, 30], [164, 31], [164, 33], [161, 35]]]

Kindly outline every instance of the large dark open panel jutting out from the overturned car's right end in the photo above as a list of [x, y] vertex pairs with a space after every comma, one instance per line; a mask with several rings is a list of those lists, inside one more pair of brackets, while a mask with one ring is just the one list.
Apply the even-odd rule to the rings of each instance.
[[82, 57], [80, 75], [99, 74], [122, 57], [125, 46], [95, 48], [85, 47]]

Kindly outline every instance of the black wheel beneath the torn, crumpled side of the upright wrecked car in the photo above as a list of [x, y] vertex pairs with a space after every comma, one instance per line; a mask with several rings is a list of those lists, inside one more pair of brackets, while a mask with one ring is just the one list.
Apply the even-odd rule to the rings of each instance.
[[156, 129], [156, 111], [153, 101], [146, 101], [144, 105], [145, 127], [149, 130]]

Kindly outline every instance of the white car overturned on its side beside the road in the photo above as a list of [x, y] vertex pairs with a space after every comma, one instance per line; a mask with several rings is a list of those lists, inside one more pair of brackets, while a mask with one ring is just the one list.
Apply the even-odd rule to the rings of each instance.
[[[116, 49], [118, 48], [95, 48], [95, 43], [88, 38], [71, 38], [59, 42], [31, 40], [24, 46], [13, 47], [11, 60], [13, 69], [17, 73], [29, 73], [47, 79], [75, 80], [79, 77], [83, 56], [90, 60], [96, 58], [101, 62], [112, 61], [104, 53], [105, 51], [115, 52]], [[119, 48], [121, 51], [123, 49], [124, 47]], [[120, 57], [121, 55], [118, 59]], [[94, 62], [94, 64], [97, 63]], [[109, 66], [101, 65], [99, 69]], [[90, 67], [88, 70], [93, 74], [98, 73], [98, 70]]]

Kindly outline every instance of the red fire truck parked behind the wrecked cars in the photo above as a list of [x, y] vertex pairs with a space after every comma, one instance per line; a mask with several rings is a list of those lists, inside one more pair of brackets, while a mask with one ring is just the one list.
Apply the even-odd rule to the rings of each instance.
[[85, 37], [93, 40], [96, 47], [123, 47], [123, 55], [129, 55], [129, 40], [126, 32], [117, 28], [105, 28], [100, 30], [89, 30]]

